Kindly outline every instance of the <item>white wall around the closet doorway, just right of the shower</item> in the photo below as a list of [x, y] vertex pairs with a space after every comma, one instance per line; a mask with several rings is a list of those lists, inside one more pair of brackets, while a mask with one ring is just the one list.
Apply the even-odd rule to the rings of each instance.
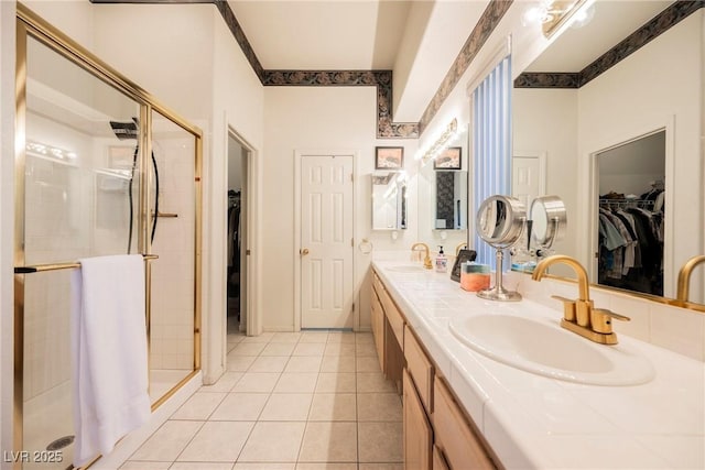
[[[259, 305], [264, 277], [261, 258], [264, 247], [261, 241], [263, 230], [259, 207], [261, 195], [262, 161], [264, 160], [264, 88], [252, 72], [240, 46], [232, 37], [220, 14], [213, 8], [213, 133], [208, 136], [212, 149], [205, 155], [204, 168], [207, 201], [204, 219], [204, 354], [208, 354], [206, 381], [217, 379], [225, 369], [226, 323], [227, 323], [227, 216], [228, 216], [228, 129], [237, 132], [250, 153], [248, 162], [250, 177], [248, 192], [252, 206], [248, 226], [253, 230], [254, 239], [248, 241], [251, 255], [248, 265], [253, 269], [254, 277], [250, 284], [254, 287], [252, 296], [247, 297], [248, 305], [256, 311], [263, 311]], [[206, 315], [207, 313], [207, 315]], [[261, 326], [254, 319], [248, 325], [251, 334], [259, 334]], [[205, 362], [204, 362], [205, 363]]]

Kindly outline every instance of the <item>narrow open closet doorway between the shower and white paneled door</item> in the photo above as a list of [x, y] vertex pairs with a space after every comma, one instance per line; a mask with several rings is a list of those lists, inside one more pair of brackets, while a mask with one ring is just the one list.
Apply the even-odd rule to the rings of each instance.
[[248, 311], [248, 165], [250, 151], [228, 133], [227, 330], [247, 332]]

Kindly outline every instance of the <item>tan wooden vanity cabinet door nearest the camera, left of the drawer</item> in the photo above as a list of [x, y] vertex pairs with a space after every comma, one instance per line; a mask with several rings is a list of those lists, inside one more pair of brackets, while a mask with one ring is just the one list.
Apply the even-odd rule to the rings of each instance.
[[433, 431], [413, 381], [404, 369], [404, 469], [431, 470]]

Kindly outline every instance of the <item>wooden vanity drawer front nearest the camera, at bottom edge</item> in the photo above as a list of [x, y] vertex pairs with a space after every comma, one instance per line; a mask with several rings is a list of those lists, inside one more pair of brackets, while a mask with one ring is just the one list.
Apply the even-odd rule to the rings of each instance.
[[437, 376], [433, 381], [433, 430], [435, 444], [448, 468], [496, 469], [481, 437], [467, 422], [453, 394]]

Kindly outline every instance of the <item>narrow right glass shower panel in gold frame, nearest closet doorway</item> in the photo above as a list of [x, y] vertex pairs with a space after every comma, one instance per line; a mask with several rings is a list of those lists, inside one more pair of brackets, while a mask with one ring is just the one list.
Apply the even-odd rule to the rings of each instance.
[[150, 156], [150, 395], [152, 403], [186, 379], [195, 364], [196, 139], [152, 112]]

